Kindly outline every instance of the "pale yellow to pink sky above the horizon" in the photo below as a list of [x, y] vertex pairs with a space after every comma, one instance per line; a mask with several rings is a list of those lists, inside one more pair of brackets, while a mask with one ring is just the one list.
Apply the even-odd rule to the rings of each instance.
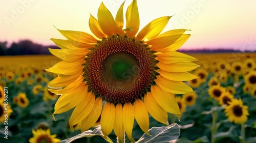
[[[227, 47], [256, 50], [254, 0], [137, 1], [140, 29], [153, 19], [174, 15], [164, 31], [175, 28], [192, 30], [182, 49]], [[0, 41], [30, 39], [52, 45], [50, 38], [64, 39], [54, 26], [92, 34], [88, 24], [90, 13], [97, 18], [101, 2], [115, 16], [123, 0], [1, 1]], [[131, 2], [125, 1], [124, 14]]]

